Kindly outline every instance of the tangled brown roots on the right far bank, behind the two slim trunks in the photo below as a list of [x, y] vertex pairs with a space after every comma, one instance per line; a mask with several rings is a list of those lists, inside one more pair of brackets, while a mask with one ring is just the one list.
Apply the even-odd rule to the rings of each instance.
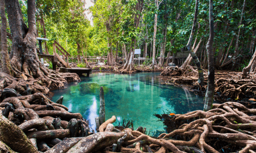
[[[242, 79], [242, 72], [216, 71], [215, 72], [215, 94], [220, 97], [229, 97], [232, 99], [256, 98], [256, 77], [251, 72], [251, 77]], [[176, 67], [166, 67], [161, 76], [172, 76], [167, 78], [166, 83], [188, 84], [193, 89], [206, 91], [207, 89], [207, 71], [204, 70], [204, 84], [202, 88], [197, 83], [198, 73], [193, 67], [187, 66], [187, 69]], [[249, 96], [247, 96], [249, 95]]]

